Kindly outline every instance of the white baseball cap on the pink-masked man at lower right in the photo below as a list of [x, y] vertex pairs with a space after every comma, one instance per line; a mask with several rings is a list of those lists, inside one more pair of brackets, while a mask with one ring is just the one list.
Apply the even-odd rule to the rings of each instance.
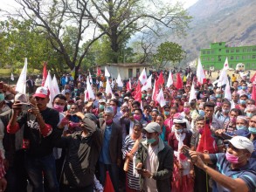
[[250, 141], [248, 138], [243, 137], [243, 136], [234, 136], [231, 140], [229, 141], [233, 147], [236, 147], [238, 149], [246, 149], [249, 151], [251, 154], [254, 151], [254, 146], [253, 142]]

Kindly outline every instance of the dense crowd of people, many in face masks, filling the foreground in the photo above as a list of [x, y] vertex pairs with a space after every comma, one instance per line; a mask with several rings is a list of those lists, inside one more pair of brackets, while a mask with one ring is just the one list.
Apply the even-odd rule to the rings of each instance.
[[232, 78], [226, 99], [225, 85], [183, 73], [183, 88], [155, 87], [164, 106], [153, 87], [135, 99], [138, 79], [106, 94], [101, 74], [85, 99], [85, 77], [64, 74], [52, 107], [39, 77], [29, 96], [0, 82], [0, 191], [254, 192], [255, 85]]

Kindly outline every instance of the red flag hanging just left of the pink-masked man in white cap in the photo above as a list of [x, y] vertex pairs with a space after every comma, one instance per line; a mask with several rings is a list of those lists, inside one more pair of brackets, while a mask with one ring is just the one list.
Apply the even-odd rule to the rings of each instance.
[[204, 153], [205, 151], [207, 151], [209, 154], [216, 154], [218, 152], [217, 143], [211, 136], [209, 124], [205, 124], [204, 132], [197, 146], [197, 152]]

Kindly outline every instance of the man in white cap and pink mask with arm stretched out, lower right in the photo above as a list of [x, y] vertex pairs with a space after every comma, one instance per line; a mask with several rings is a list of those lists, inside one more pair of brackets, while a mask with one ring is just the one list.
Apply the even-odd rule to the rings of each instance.
[[[182, 150], [189, 147], [183, 146]], [[253, 142], [243, 136], [228, 141], [225, 153], [204, 154], [189, 151], [191, 162], [216, 182], [213, 191], [255, 191], [256, 172], [250, 168]], [[216, 170], [209, 164], [218, 165]]]

